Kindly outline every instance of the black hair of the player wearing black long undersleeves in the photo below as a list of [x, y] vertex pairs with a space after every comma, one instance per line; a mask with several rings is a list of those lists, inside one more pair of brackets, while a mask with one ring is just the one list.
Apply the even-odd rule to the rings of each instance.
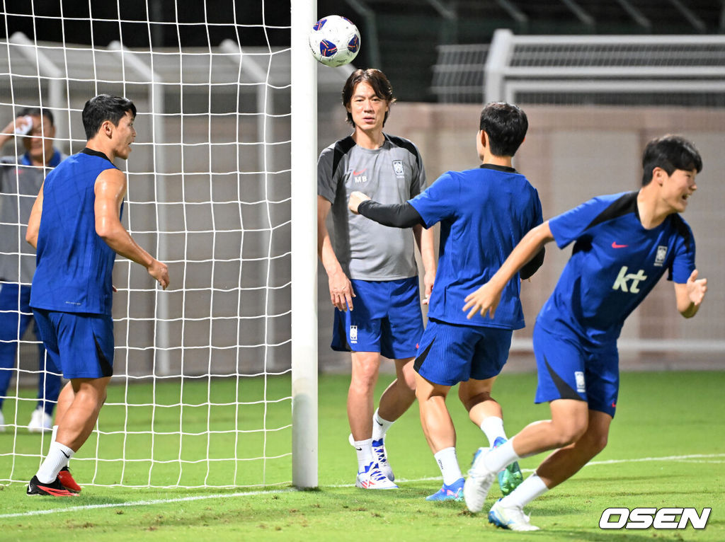
[[513, 157], [529, 130], [529, 119], [521, 107], [505, 101], [492, 101], [481, 111], [479, 130], [489, 135], [491, 153], [497, 157]]

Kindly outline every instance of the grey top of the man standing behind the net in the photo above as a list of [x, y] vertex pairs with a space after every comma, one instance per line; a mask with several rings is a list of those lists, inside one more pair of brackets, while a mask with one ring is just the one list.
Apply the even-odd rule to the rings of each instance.
[[[65, 154], [54, 151], [50, 165], [65, 158]], [[31, 166], [27, 157], [0, 158], [0, 280], [25, 285], [33, 282], [36, 251], [25, 242], [25, 231], [30, 210], [50, 169]]]

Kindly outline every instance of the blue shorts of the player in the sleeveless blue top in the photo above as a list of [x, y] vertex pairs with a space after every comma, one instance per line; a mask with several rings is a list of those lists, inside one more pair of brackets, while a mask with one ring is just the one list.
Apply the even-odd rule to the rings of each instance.
[[113, 375], [113, 320], [107, 314], [33, 309], [48, 356], [65, 378]]

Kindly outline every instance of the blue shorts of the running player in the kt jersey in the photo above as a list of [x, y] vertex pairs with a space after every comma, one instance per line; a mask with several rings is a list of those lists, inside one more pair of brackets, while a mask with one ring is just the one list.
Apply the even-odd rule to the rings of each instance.
[[587, 401], [590, 410], [614, 417], [619, 393], [619, 354], [615, 344], [587, 349], [534, 326], [534, 354], [539, 385], [536, 403], [555, 399]]

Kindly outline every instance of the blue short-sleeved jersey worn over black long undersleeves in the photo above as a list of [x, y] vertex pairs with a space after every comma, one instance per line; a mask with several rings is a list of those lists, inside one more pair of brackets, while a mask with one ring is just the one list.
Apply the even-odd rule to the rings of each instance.
[[441, 222], [436, 282], [428, 317], [451, 324], [521, 329], [518, 273], [501, 293], [494, 319], [463, 312], [465, 296], [494, 275], [526, 233], [542, 223], [539, 193], [511, 167], [484, 164], [447, 172], [410, 200], [430, 228]]

